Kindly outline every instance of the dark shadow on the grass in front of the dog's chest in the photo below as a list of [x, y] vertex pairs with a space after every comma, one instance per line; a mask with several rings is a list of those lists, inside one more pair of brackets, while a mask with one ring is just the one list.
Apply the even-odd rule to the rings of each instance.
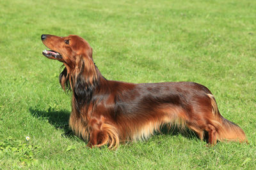
[[62, 129], [64, 131], [64, 134], [62, 134], [61, 136], [65, 138], [74, 136], [74, 134], [72, 133], [72, 131], [68, 126], [70, 111], [67, 111], [67, 110], [56, 111], [52, 108], [49, 108], [48, 110], [37, 110], [37, 109], [29, 108], [29, 112], [35, 118], [42, 119], [42, 120], [46, 119], [47, 122], [53, 125], [56, 129]]

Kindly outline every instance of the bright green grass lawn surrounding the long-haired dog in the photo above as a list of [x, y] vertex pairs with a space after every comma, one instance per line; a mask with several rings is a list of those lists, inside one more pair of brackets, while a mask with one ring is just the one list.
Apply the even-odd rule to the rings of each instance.
[[[68, 131], [61, 63], [41, 34], [77, 34], [109, 80], [195, 81], [250, 142], [207, 147], [161, 134], [118, 150], [87, 148]], [[256, 169], [256, 1], [0, 3], [0, 169]], [[29, 136], [29, 140], [26, 140]]]

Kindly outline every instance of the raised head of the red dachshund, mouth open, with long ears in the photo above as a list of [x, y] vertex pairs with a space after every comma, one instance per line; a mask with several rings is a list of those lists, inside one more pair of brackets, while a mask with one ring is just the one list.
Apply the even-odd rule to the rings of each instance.
[[93, 84], [97, 80], [92, 48], [83, 38], [75, 35], [60, 37], [42, 34], [41, 39], [44, 45], [50, 48], [44, 50], [43, 55], [48, 59], [59, 60], [65, 65], [60, 74], [63, 89], [72, 89], [73, 85], [81, 82]]

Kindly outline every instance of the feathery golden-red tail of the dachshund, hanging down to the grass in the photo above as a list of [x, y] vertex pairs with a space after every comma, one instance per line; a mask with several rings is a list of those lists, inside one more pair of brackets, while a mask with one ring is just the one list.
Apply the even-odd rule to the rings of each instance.
[[[238, 141], [240, 143], [248, 143], [244, 131], [238, 125], [230, 122], [220, 115], [218, 106], [212, 94], [207, 94], [211, 99], [212, 114], [216, 118], [216, 138], [218, 141]], [[211, 141], [209, 141], [211, 143]]]

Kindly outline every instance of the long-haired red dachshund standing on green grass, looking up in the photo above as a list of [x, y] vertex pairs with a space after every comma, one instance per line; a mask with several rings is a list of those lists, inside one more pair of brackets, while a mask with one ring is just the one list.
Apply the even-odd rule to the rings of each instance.
[[83, 38], [43, 34], [48, 59], [63, 62], [60, 84], [72, 90], [69, 125], [88, 146], [147, 139], [163, 125], [188, 127], [210, 145], [246, 141], [243, 130], [220, 115], [209, 89], [193, 82], [126, 83], [106, 80]]

